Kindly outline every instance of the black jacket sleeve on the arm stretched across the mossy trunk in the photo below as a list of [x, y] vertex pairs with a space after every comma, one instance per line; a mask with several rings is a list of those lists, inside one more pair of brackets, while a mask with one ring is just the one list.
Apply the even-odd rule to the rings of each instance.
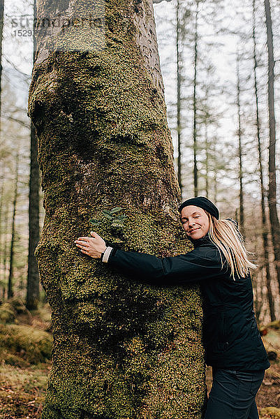
[[184, 285], [224, 274], [216, 247], [196, 248], [186, 254], [167, 258], [113, 249], [108, 265], [117, 267], [132, 279], [165, 286]]

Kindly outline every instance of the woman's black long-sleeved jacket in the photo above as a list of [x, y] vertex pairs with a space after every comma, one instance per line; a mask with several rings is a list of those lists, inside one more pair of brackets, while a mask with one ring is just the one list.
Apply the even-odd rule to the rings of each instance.
[[193, 244], [192, 251], [168, 258], [113, 249], [108, 264], [148, 284], [187, 286], [199, 281], [207, 365], [237, 371], [269, 368], [253, 312], [250, 274], [234, 281], [208, 234]]

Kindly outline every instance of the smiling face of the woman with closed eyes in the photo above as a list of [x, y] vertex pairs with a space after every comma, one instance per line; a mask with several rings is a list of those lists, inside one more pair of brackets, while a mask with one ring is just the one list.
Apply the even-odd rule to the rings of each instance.
[[188, 205], [181, 212], [181, 221], [186, 234], [192, 240], [201, 239], [209, 230], [209, 218], [200, 207], [196, 205]]

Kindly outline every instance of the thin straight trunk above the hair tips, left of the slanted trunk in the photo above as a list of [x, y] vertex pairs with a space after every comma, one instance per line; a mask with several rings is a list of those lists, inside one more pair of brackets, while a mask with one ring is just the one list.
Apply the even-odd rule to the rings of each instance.
[[243, 193], [243, 166], [242, 166], [242, 131], [240, 111], [240, 53], [237, 52], [237, 109], [238, 109], [238, 158], [240, 182], [240, 231], [244, 235], [244, 193]]

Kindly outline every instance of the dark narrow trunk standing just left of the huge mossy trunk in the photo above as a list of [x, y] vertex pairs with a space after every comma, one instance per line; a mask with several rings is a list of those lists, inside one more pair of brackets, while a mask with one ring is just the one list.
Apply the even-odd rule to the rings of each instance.
[[[36, 19], [36, 1], [34, 1], [34, 20]], [[35, 61], [36, 39], [34, 36]], [[38, 142], [35, 126], [31, 123], [30, 130], [30, 178], [29, 178], [29, 249], [27, 272], [27, 309], [37, 309], [39, 302], [39, 272], [34, 254], [39, 241], [39, 166]]]

